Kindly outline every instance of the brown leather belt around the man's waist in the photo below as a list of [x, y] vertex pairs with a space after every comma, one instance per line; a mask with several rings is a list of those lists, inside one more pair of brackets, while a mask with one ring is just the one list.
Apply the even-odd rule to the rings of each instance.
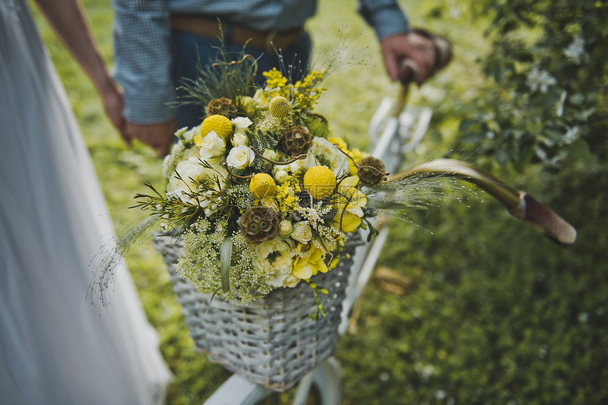
[[[300, 35], [304, 32], [303, 28], [294, 28], [293, 30], [269, 31], [264, 33], [262, 31], [226, 23], [226, 21], [221, 21], [220, 23], [217, 19], [194, 14], [171, 14], [170, 23], [171, 27], [176, 30], [210, 38], [221, 37], [222, 31], [220, 30], [220, 27], [221, 25], [224, 25], [224, 35], [226, 35], [226, 31], [229, 31], [229, 37], [225, 37], [228, 42], [240, 45], [245, 45], [245, 43], [247, 43], [247, 45], [264, 48], [267, 51], [291, 47], [291, 45], [295, 44], [298, 39], [300, 39]], [[230, 27], [229, 30], [226, 30], [227, 25]]]

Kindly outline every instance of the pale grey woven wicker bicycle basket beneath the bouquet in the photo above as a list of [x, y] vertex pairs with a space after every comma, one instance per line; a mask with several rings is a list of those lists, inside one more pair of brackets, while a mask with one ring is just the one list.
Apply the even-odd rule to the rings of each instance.
[[[341, 259], [332, 271], [315, 276], [315, 283], [329, 290], [328, 295], [320, 294], [327, 317], [315, 322], [308, 318], [317, 307], [315, 297], [305, 283], [279, 288], [248, 305], [219, 297], [209, 303], [209, 295], [199, 293], [175, 271], [182, 240], [164, 235], [156, 237], [154, 244], [165, 257], [192, 339], [211, 361], [283, 391], [334, 352], [350, 259]], [[355, 246], [354, 241], [347, 244], [345, 252], [352, 253]]]

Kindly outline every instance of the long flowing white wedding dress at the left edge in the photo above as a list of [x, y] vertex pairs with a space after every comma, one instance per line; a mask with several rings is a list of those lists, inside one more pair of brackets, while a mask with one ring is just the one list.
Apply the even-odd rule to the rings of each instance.
[[170, 372], [126, 266], [109, 308], [88, 263], [112, 221], [23, 0], [0, 0], [0, 404], [162, 404]]

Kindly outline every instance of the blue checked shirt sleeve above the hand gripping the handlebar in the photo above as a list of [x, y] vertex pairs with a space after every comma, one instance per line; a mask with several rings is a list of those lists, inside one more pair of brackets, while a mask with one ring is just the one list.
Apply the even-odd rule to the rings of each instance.
[[375, 30], [378, 40], [411, 30], [407, 16], [395, 0], [359, 0], [359, 13]]

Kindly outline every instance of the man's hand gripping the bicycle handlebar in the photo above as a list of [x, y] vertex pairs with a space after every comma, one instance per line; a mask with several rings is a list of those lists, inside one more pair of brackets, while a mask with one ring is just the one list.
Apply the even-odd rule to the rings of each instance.
[[380, 42], [385, 68], [392, 81], [418, 86], [433, 72], [435, 66], [435, 46], [427, 37], [411, 32], [386, 37]]

